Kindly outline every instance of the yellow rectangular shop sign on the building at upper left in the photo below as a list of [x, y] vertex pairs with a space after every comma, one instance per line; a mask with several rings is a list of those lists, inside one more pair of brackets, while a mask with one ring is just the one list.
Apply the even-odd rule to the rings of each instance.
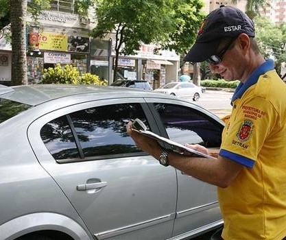
[[67, 51], [67, 36], [43, 32], [40, 34], [40, 49]]

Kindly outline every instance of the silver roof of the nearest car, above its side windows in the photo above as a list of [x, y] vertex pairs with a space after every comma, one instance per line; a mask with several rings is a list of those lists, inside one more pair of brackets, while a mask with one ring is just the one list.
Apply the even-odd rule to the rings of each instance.
[[[87, 94], [96, 95], [134, 95], [134, 97], [144, 97], [152, 95], [156, 97], [158, 93], [144, 91], [137, 88], [119, 88], [116, 86], [92, 86], [92, 85], [69, 85], [69, 84], [35, 84], [22, 86], [0, 85], [0, 98], [18, 101], [23, 104], [37, 106], [47, 101], [60, 99], [68, 96], [79, 96]], [[154, 96], [155, 95], [155, 96]], [[162, 97], [158, 94], [157, 96]]]

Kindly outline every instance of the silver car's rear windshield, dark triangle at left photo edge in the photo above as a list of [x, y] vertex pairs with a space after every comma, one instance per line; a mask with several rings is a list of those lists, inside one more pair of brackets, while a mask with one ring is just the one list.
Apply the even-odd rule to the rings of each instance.
[[0, 123], [32, 107], [17, 101], [0, 98]]

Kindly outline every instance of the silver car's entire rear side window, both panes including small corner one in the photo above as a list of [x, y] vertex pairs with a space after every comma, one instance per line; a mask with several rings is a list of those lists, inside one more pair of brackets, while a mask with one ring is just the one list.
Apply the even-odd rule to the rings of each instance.
[[[64, 117], [55, 119], [47, 123], [40, 134], [49, 152], [60, 162], [69, 162], [68, 158], [96, 160], [122, 157], [126, 154], [142, 153], [126, 133], [126, 124], [136, 117], [143, 119], [147, 124], [140, 104], [99, 106], [70, 113], [65, 117], [70, 121], [63, 124], [64, 128], [54, 124]], [[51, 128], [51, 125], [60, 129], [50, 130], [49, 134], [61, 135], [60, 138], [47, 137], [47, 129]], [[71, 155], [59, 152], [70, 152]], [[75, 152], [78, 154], [75, 155]]]

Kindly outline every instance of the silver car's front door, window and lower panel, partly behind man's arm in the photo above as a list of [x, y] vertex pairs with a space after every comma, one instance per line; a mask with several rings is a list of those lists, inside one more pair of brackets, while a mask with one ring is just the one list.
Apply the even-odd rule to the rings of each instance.
[[[198, 106], [175, 100], [152, 103], [150, 108], [158, 113], [157, 122], [163, 122], [161, 134], [167, 134], [169, 139], [181, 144], [196, 143], [219, 148], [224, 123], [209, 112], [202, 112]], [[216, 187], [180, 170], [177, 170], [177, 176], [178, 202], [174, 235], [222, 224]]]

